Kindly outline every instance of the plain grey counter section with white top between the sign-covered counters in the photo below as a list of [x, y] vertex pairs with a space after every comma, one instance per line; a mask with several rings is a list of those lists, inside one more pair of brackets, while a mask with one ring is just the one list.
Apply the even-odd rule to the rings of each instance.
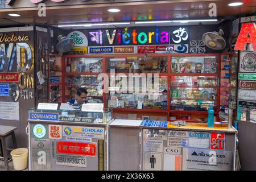
[[142, 120], [115, 119], [109, 124], [110, 171], [139, 171]]

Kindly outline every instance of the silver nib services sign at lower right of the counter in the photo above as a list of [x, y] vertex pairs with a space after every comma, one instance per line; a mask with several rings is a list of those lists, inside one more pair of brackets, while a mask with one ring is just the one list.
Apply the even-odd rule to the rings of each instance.
[[183, 171], [232, 171], [234, 151], [183, 148]]

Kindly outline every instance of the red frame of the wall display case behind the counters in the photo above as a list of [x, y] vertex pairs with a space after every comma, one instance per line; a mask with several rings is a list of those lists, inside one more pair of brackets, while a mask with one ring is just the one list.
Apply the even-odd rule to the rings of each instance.
[[[62, 57], [62, 99], [65, 102], [65, 77], [67, 76], [79, 76], [79, 75], [100, 75], [100, 73], [65, 73], [65, 59], [67, 58], [81, 58], [81, 57], [101, 57], [102, 58], [102, 73], [106, 73], [107, 75], [110, 75], [108, 72], [108, 64], [106, 64], [106, 59], [109, 57], [133, 57], [133, 56], [141, 56], [143, 57], [145, 54], [143, 53], [134, 53], [134, 54], [95, 54], [95, 55], [66, 55]], [[167, 109], [158, 110], [158, 109], [125, 109], [125, 108], [115, 108], [114, 113], [116, 111], [122, 111], [122, 112], [135, 112], [135, 113], [154, 113], [154, 114], [166, 114], [167, 120], [170, 120], [170, 113], [195, 113], [195, 114], [207, 114], [207, 111], [187, 111], [187, 110], [171, 110], [171, 76], [215, 76], [217, 78], [220, 78], [220, 57], [221, 53], [204, 53], [204, 54], [193, 54], [193, 53], [146, 53], [148, 57], [167, 57], [167, 73], [152, 73], [159, 74], [159, 76], [167, 76], [168, 80], [168, 90], [167, 90]], [[216, 56], [217, 58], [217, 73], [172, 73], [171, 72], [171, 59], [172, 57], [196, 57], [196, 56]], [[115, 73], [117, 75], [118, 73]], [[127, 76], [131, 73], [123, 73]], [[133, 73], [132, 73], [133, 74]], [[147, 75], [147, 73], [146, 73]], [[103, 103], [106, 107], [107, 104], [107, 94], [103, 93]], [[218, 113], [220, 111], [220, 86], [217, 85], [217, 96], [216, 96], [216, 110], [214, 112], [214, 115], [218, 116]], [[218, 118], [218, 117], [217, 117]], [[187, 122], [198, 122], [193, 120], [188, 120]]]

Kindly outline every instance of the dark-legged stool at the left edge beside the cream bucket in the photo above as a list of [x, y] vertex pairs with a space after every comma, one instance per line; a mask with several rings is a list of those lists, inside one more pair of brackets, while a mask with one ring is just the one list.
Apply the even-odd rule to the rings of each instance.
[[17, 129], [17, 127], [0, 125], [0, 147], [1, 147], [0, 159], [5, 161], [5, 167], [7, 170], [9, 170], [9, 162], [11, 162], [11, 160], [12, 160], [12, 159], [8, 160], [7, 150], [13, 150], [13, 149], [6, 148], [5, 139], [11, 135], [11, 138], [13, 139], [14, 148], [17, 148], [17, 142], [16, 142], [16, 138], [15, 138], [15, 134], [14, 134], [14, 130], [16, 130], [16, 129]]

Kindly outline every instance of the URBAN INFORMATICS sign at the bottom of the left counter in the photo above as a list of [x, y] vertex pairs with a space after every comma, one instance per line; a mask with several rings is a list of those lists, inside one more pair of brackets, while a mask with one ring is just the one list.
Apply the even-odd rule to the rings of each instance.
[[61, 166], [86, 167], [86, 156], [57, 155], [56, 164]]

